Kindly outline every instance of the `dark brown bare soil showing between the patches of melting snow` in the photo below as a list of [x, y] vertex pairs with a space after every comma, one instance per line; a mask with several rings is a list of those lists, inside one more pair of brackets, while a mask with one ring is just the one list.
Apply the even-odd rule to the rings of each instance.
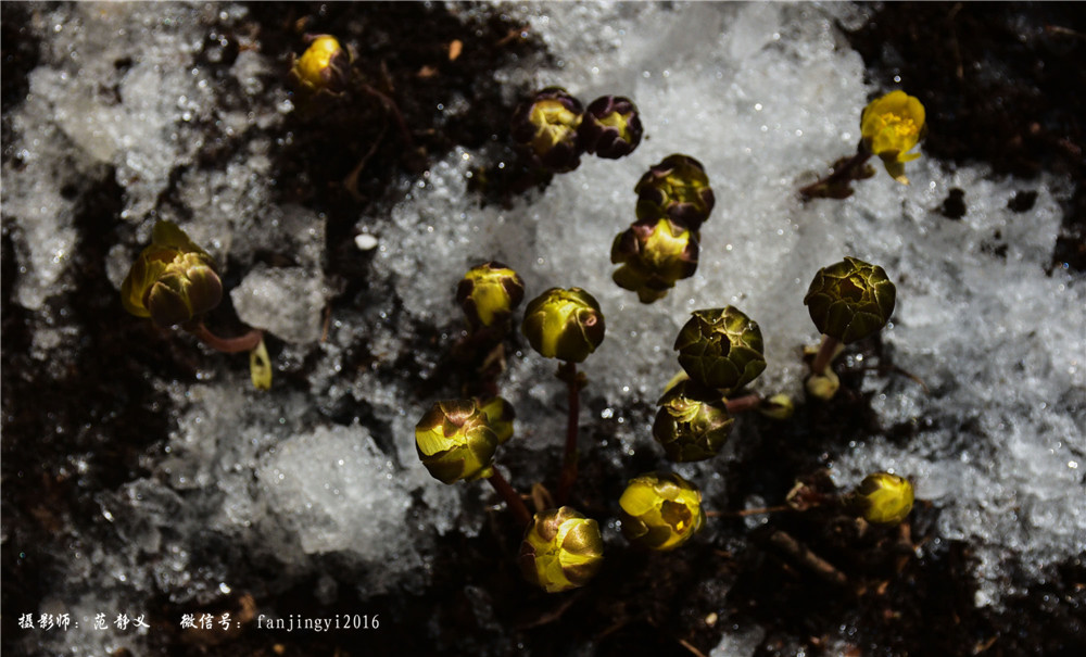
[[[357, 77], [341, 98], [300, 108], [283, 128], [285, 148], [275, 161], [279, 203], [300, 203], [328, 217], [326, 274], [340, 289], [338, 306], [378, 293], [367, 287], [368, 261], [352, 251], [357, 217], [379, 213], [395, 199], [390, 184], [403, 173], [425, 170], [451, 148], [492, 144], [504, 157], [513, 108], [491, 72], [543, 49], [522, 26], [493, 15], [463, 25], [441, 4], [253, 3], [247, 30], [258, 35], [265, 53], [288, 66], [303, 33], [334, 33], [355, 52]], [[37, 43], [18, 25], [27, 10], [3, 4], [3, 104], [5, 113], [26, 92], [25, 77], [37, 62]], [[994, 175], [1012, 175], [1022, 190], [1009, 206], [1023, 220], [1036, 199], [1031, 180], [1041, 172], [1069, 179], [1073, 190], [1053, 268], [1086, 270], [1086, 195], [1081, 181], [1086, 103], [1086, 21], [1073, 4], [886, 3], [873, 21], [850, 35], [869, 75], [886, 89], [904, 87], [929, 112], [925, 156], [946, 166], [984, 162]], [[229, 66], [236, 35], [218, 66]], [[450, 58], [454, 40], [463, 45]], [[232, 49], [232, 50], [231, 50]], [[207, 63], [209, 66], [213, 64]], [[899, 84], [894, 81], [900, 76]], [[523, 90], [527, 91], [527, 90]], [[472, 111], [444, 111], [463, 97]], [[404, 132], [400, 119], [407, 126]], [[4, 142], [9, 125], [3, 121]], [[286, 139], [289, 136], [289, 139]], [[200, 166], [216, 166], [224, 153], [207, 147]], [[12, 155], [4, 151], [5, 161]], [[147, 371], [193, 380], [205, 367], [184, 340], [149, 323], [103, 323], [116, 313], [116, 292], [102, 270], [104, 254], [118, 240], [116, 213], [122, 192], [111, 170], [73, 189], [80, 198], [81, 242], [73, 269], [76, 291], [59, 300], [65, 321], [83, 340], [66, 368], [48, 367], [29, 355], [27, 313], [12, 301], [18, 262], [7, 225], [2, 262], [3, 383], [3, 645], [14, 649], [22, 631], [17, 612], [38, 609], [56, 592], [70, 530], [102, 531], [96, 493], [113, 491], [146, 476], [141, 456], [160, 454], [168, 427], [168, 400], [147, 384]], [[504, 186], [500, 186], [503, 187]], [[495, 200], [491, 198], [490, 200]], [[482, 199], [481, 199], [482, 201]], [[171, 195], [164, 194], [164, 203]], [[949, 218], [968, 212], [969, 191], [948, 198]], [[960, 203], [960, 205], [959, 205]], [[344, 247], [344, 244], [346, 244]], [[351, 251], [349, 251], [351, 250]], [[275, 254], [267, 257], [274, 258]], [[235, 268], [237, 269], [237, 268]], [[58, 316], [61, 316], [58, 308]], [[415, 331], [417, 351], [445, 353], [435, 327]], [[275, 351], [278, 345], [270, 344]], [[773, 424], [744, 417], [745, 446], [723, 466], [727, 496], [707, 500], [724, 510], [728, 501], [760, 496], [783, 501], [797, 479], [825, 488], [822, 468], [850, 441], [873, 435], [908, 442], [923, 427], [882, 427], [861, 389], [864, 377], [901, 377], [892, 350], [877, 338], [850, 348], [864, 355], [864, 369], [843, 359], [843, 392], [826, 405], [801, 404], [793, 421]], [[355, 345], [348, 366], [366, 364], [366, 345]], [[874, 369], [868, 368], [871, 364]], [[432, 399], [479, 384], [446, 359], [439, 371], [405, 355], [400, 374], [417, 378], [418, 397]], [[460, 371], [459, 378], [455, 372]], [[432, 372], [430, 372], [432, 374]], [[295, 383], [304, 387], [304, 367]], [[390, 374], [391, 376], [391, 374]], [[902, 379], [904, 380], [904, 379]], [[902, 383], [911, 384], [911, 383]], [[444, 387], [444, 388], [441, 388]], [[441, 390], [439, 390], [441, 388]], [[586, 391], [591, 405], [591, 387]], [[41, 413], [41, 400], [56, 400]], [[342, 417], [338, 417], [339, 413]], [[651, 402], [624, 413], [651, 421]], [[338, 410], [331, 421], [370, 418], [364, 406]], [[607, 439], [599, 427], [583, 429]], [[593, 443], [595, 444], [595, 442]], [[558, 455], [554, 456], [557, 471]], [[76, 469], [76, 459], [89, 465]], [[656, 454], [635, 454], [623, 468], [583, 455], [577, 505], [590, 516], [610, 517], [611, 496], [630, 472], [658, 467]], [[509, 464], [516, 476], [519, 465]], [[515, 482], [522, 483], [522, 482]], [[831, 491], [826, 491], [831, 492]], [[860, 531], [833, 509], [773, 516], [757, 530], [740, 519], [710, 520], [712, 530], [681, 554], [616, 549], [590, 586], [552, 596], [522, 583], [510, 555], [520, 530], [505, 515], [489, 516], [477, 538], [443, 536], [433, 556], [432, 584], [425, 592], [366, 595], [357, 587], [365, 572], [341, 567], [333, 557], [317, 572], [336, 576], [337, 601], [317, 599], [317, 574], [286, 591], [269, 586], [275, 564], [209, 545], [209, 563], [232, 555], [235, 593], [205, 607], [155, 598], [149, 609], [149, 643], [159, 655], [371, 655], [434, 653], [504, 655], [691, 655], [707, 654], [724, 632], [765, 629], [758, 655], [831, 654], [830, 641], [845, 628], [855, 655], [1079, 655], [1086, 649], [1086, 565], [1070, 559], [1046, 583], [1031, 584], [1001, 610], [976, 608], [970, 546], [937, 542], [938, 510], [923, 504], [899, 530]], [[833, 568], [811, 567], [783, 549], [791, 538]], [[917, 556], [914, 546], [921, 546]], [[220, 549], [219, 549], [220, 548]], [[212, 554], [219, 549], [219, 555]], [[257, 631], [237, 633], [181, 630], [182, 614], [247, 609], [286, 617], [380, 615], [369, 631]], [[718, 622], [716, 619], [724, 619]], [[12, 653], [14, 654], [14, 653]]]

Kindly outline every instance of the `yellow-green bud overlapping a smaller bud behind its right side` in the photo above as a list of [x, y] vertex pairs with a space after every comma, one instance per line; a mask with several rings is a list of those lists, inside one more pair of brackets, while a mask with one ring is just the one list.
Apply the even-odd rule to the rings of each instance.
[[497, 444], [487, 415], [471, 400], [435, 402], [415, 425], [418, 457], [442, 483], [493, 475]]

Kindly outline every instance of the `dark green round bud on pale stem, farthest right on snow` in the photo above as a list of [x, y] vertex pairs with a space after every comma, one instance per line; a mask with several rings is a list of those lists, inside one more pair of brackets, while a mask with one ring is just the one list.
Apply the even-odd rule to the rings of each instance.
[[845, 257], [819, 269], [804, 304], [819, 331], [848, 344], [886, 325], [896, 293], [882, 267]]

